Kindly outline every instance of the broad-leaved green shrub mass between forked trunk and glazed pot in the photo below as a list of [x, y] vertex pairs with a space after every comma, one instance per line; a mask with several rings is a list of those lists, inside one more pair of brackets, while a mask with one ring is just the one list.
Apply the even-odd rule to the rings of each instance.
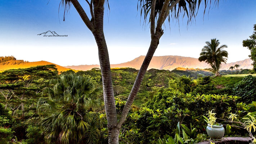
[[[202, 115], [216, 109], [216, 115], [224, 117], [237, 109], [238, 97], [228, 95], [192, 95], [183, 94], [171, 88], [155, 89], [152, 100], [145, 103], [138, 112], [138, 120], [133, 129], [138, 129], [139, 140], [136, 143], [156, 143], [158, 138], [175, 135], [178, 122], [199, 131], [204, 131], [206, 123]], [[127, 119], [129, 123], [129, 119]], [[205, 136], [201, 136], [205, 139]], [[198, 140], [201, 140], [198, 139]]]

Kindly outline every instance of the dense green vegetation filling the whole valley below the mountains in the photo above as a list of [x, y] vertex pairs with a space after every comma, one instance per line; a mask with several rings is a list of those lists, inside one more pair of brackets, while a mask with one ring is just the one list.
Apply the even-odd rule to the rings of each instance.
[[[138, 71], [114, 68], [111, 72], [120, 117]], [[121, 144], [166, 143], [175, 140], [175, 135], [181, 138], [176, 139], [177, 143], [189, 140], [193, 144], [207, 138], [207, 123], [202, 116], [208, 111], [214, 109], [221, 119], [229, 119], [230, 113], [235, 113], [242, 122], [248, 112], [256, 110], [256, 77], [195, 78], [178, 74], [158, 69], [146, 72], [120, 130]], [[10, 69], [1, 72], [0, 92], [3, 144], [107, 143], [98, 68], [61, 75], [54, 65]], [[248, 136], [248, 132], [232, 126], [225, 135]]]

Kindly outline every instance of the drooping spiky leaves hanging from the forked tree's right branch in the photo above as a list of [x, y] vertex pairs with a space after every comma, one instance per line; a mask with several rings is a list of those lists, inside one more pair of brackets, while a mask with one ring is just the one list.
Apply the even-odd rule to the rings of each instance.
[[[152, 22], [151, 16], [158, 20], [164, 4], [167, 4], [165, 15], [163, 19], [168, 18], [168, 22], [171, 19], [188, 18], [188, 23], [196, 18], [200, 5], [204, 3], [204, 12], [207, 10], [207, 6], [210, 9], [211, 4], [218, 5], [218, 0], [139, 0], [137, 9], [140, 11], [140, 16], [145, 23]], [[152, 14], [152, 10], [154, 14]], [[149, 17], [149, 19], [148, 19]], [[148, 21], [149, 20], [149, 21]], [[157, 21], [157, 23], [160, 21]]]

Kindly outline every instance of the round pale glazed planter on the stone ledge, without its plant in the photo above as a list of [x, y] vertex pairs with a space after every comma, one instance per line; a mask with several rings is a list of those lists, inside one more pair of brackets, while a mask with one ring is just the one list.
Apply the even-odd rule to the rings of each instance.
[[220, 140], [224, 136], [225, 129], [224, 129], [223, 125], [211, 126], [208, 124], [208, 126], [206, 127], [206, 132], [207, 132], [208, 136], [210, 136], [210, 138]]

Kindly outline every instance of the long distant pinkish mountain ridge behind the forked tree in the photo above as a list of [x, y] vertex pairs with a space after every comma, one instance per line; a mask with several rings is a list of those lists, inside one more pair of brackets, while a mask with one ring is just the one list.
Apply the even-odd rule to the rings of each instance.
[[[141, 55], [129, 62], [120, 63], [120, 64], [111, 64], [111, 68], [117, 68], [117, 67], [130, 67], [139, 69], [141, 64], [143, 63], [145, 56]], [[240, 60], [233, 63], [223, 63], [221, 66], [221, 70], [227, 70], [230, 66], [234, 66], [235, 64], [239, 64], [240, 68], [243, 69], [252, 69], [252, 60], [250, 58]], [[82, 70], [87, 71], [92, 68], [100, 68], [98, 64], [92, 64], [92, 65], [78, 65], [78, 66], [64, 66], [66, 68], [71, 68], [75, 70]], [[155, 69], [166, 69], [166, 70], [173, 70], [177, 67], [184, 67], [184, 68], [199, 68], [199, 69], [205, 69], [209, 68], [209, 64], [205, 62], [199, 62], [198, 58], [192, 58], [192, 57], [183, 57], [178, 55], [165, 55], [165, 56], [153, 56], [148, 69], [155, 68]]]

